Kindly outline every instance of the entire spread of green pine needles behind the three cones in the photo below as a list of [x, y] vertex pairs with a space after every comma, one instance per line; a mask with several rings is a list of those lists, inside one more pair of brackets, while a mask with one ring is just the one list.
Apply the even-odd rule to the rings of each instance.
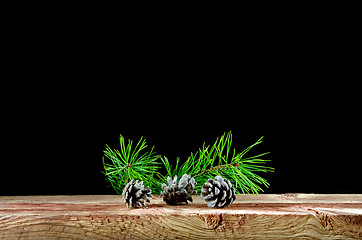
[[[179, 179], [185, 173], [195, 178], [198, 192], [209, 178], [221, 175], [231, 181], [237, 193], [257, 194], [263, 191], [261, 186], [268, 187], [269, 183], [256, 173], [273, 172], [274, 169], [265, 165], [270, 160], [261, 158], [268, 152], [250, 157], [245, 155], [260, 144], [262, 138], [241, 153], [236, 153], [235, 148], [231, 148], [231, 132], [224, 133], [213, 145], [206, 146], [204, 143], [196, 153], [191, 153], [184, 163], [180, 162], [180, 158], [176, 158], [173, 167], [167, 157], [156, 155], [153, 148], [150, 152], [141, 153], [147, 147], [146, 141], [142, 138], [132, 147], [132, 141], [128, 140], [128, 144], [125, 144], [121, 136], [120, 150], [112, 150], [107, 145], [104, 151], [105, 157], [110, 160], [106, 163], [103, 158], [104, 174], [118, 194], [121, 194], [123, 187], [131, 179], [140, 179], [152, 189], [152, 192], [160, 193], [161, 184], [167, 182], [167, 176], [173, 178], [177, 175]], [[166, 175], [159, 172], [160, 165], [165, 168]]]

